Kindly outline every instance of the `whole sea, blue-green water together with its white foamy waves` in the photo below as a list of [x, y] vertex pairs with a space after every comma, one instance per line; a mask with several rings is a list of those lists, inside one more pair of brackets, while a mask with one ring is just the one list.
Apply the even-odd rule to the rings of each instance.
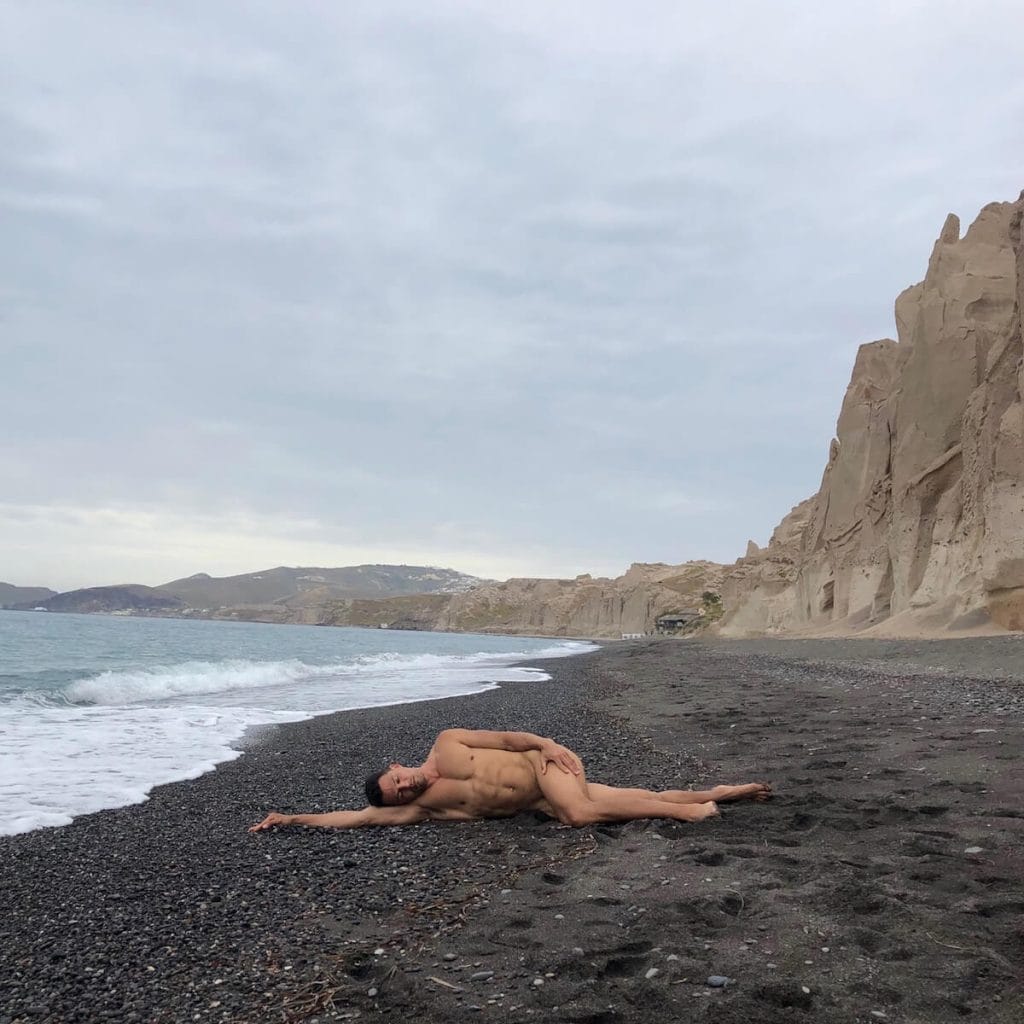
[[550, 677], [586, 641], [0, 611], [0, 835], [146, 799], [254, 726]]

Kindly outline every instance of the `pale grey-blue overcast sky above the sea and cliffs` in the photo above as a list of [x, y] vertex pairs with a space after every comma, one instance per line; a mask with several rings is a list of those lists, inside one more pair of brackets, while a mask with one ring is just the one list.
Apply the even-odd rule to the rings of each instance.
[[1019, 2], [0, 0], [0, 580], [731, 561], [943, 218]]

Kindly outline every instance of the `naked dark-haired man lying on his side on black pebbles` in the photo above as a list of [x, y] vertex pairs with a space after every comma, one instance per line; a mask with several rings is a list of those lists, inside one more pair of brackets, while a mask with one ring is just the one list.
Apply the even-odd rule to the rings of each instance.
[[[548, 771], [554, 765], [557, 771]], [[764, 782], [714, 790], [625, 790], [588, 782], [572, 751], [531, 732], [445, 729], [418, 768], [390, 764], [366, 783], [369, 807], [328, 814], [268, 814], [250, 831], [273, 825], [361, 828], [420, 821], [475, 821], [542, 811], [567, 825], [638, 818], [700, 821], [718, 804], [767, 800]]]

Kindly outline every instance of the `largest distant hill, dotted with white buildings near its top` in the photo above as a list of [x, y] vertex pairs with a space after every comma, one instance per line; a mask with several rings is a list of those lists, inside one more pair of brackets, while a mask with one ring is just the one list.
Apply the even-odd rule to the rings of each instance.
[[206, 572], [155, 588], [190, 608], [234, 608], [330, 600], [387, 599], [410, 594], [462, 594], [489, 581], [429, 565], [279, 565], [233, 577]]

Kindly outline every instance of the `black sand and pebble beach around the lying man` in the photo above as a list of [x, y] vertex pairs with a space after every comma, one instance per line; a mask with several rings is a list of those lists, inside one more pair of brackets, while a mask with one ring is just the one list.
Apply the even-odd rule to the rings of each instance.
[[[547, 668], [281, 727], [145, 804], [0, 839], [0, 1022], [1024, 1019], [1024, 638]], [[554, 735], [596, 781], [777, 796], [699, 824], [246, 831], [359, 806], [370, 767], [453, 725]]]

